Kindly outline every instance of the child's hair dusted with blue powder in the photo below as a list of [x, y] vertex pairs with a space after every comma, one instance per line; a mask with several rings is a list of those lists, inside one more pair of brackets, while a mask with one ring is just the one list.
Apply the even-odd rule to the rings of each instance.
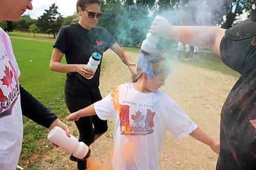
[[141, 54], [139, 55], [137, 74], [132, 76], [132, 82], [137, 82], [144, 73], [148, 78], [152, 78], [159, 73], [168, 74], [169, 70], [169, 63], [160, 53]]

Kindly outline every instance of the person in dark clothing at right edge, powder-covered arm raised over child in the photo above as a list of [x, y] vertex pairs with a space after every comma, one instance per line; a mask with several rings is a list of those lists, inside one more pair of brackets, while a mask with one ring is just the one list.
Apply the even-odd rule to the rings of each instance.
[[154, 20], [152, 34], [214, 50], [241, 74], [221, 111], [217, 169], [256, 169], [256, 1], [250, 18], [228, 30]]

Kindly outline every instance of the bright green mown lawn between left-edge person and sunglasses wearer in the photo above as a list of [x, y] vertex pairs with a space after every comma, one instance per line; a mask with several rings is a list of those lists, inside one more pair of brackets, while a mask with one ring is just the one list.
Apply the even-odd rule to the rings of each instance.
[[49, 68], [52, 43], [12, 38], [12, 44], [21, 72], [19, 82], [22, 86], [42, 103], [49, 103], [63, 93], [66, 74]]

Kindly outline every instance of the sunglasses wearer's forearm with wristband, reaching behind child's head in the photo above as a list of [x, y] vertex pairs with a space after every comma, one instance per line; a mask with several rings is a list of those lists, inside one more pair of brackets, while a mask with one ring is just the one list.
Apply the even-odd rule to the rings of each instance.
[[110, 48], [119, 56], [122, 62], [129, 67], [131, 74], [136, 74], [136, 66], [129, 65], [129, 63], [133, 62], [133, 60], [127, 53], [123, 51], [123, 49], [118, 45], [118, 43], [115, 42]]

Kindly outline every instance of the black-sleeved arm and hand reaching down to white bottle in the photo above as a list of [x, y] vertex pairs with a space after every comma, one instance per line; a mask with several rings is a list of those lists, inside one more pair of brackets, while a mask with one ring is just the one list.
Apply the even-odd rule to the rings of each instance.
[[49, 128], [49, 131], [58, 126], [64, 129], [68, 136], [70, 130], [67, 125], [62, 123], [56, 114], [42, 105], [37, 99], [34, 98], [26, 89], [19, 85], [20, 91], [20, 105], [22, 107], [22, 114], [29, 119], [33, 120], [38, 125]]

